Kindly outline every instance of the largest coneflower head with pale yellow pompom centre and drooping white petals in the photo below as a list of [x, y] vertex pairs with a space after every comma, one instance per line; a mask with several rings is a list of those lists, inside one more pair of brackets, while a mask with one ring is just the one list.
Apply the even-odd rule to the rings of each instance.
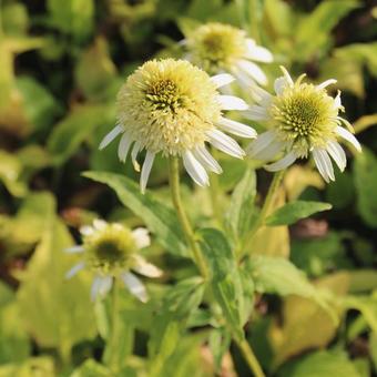
[[230, 74], [210, 78], [187, 61], [166, 59], [150, 61], [129, 77], [118, 95], [118, 125], [103, 139], [105, 147], [122, 134], [119, 157], [131, 157], [136, 171], [136, 155], [146, 150], [141, 170], [144, 192], [156, 153], [182, 156], [183, 164], [198, 185], [208, 185], [207, 171], [222, 169], [205, 147], [214, 147], [242, 159], [244, 151], [223, 131], [255, 137], [252, 128], [223, 116], [224, 110], [246, 110], [247, 104], [233, 95], [221, 95], [217, 88], [233, 81]]

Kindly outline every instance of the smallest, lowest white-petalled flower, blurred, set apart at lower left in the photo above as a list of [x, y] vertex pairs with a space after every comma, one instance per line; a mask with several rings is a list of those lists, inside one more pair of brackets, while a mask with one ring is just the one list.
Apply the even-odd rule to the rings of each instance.
[[140, 227], [131, 231], [119, 223], [94, 220], [93, 226], [83, 226], [80, 233], [83, 244], [67, 248], [65, 252], [80, 253], [82, 261], [68, 272], [67, 278], [89, 267], [95, 274], [91, 289], [92, 300], [98, 296], [104, 296], [116, 277], [123, 281], [131, 294], [146, 302], [146, 289], [131, 271], [147, 277], [162, 275], [161, 269], [137, 254], [140, 248], [151, 243], [147, 230]]

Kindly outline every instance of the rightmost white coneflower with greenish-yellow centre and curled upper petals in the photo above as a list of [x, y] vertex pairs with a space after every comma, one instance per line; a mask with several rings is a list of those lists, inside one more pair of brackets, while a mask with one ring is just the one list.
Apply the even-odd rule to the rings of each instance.
[[294, 82], [289, 73], [284, 68], [282, 70], [284, 75], [275, 81], [275, 95], [259, 88], [257, 105], [247, 111], [247, 118], [266, 122], [269, 129], [248, 146], [247, 153], [257, 160], [272, 160], [283, 152], [281, 160], [265, 166], [272, 172], [286, 169], [297, 159], [312, 153], [324, 180], [334, 181], [330, 157], [342, 172], [347, 164], [346, 154], [337, 140], [345, 139], [361, 151], [351, 133], [351, 125], [339, 116], [339, 111], [344, 111], [340, 92], [335, 99], [327, 94], [326, 88], [336, 80], [314, 85], [304, 83], [303, 74]]

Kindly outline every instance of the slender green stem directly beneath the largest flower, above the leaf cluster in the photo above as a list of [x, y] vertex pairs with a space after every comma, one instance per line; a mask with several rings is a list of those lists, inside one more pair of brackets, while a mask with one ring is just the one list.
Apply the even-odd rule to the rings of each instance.
[[172, 193], [173, 204], [182, 225], [183, 232], [186, 236], [187, 243], [192, 249], [194, 262], [200, 269], [201, 275], [206, 279], [208, 277], [208, 269], [205, 263], [201, 248], [195, 241], [194, 231], [190, 224], [187, 214], [184, 211], [182, 204], [182, 197], [180, 192], [180, 162], [177, 157], [170, 157], [170, 186]]

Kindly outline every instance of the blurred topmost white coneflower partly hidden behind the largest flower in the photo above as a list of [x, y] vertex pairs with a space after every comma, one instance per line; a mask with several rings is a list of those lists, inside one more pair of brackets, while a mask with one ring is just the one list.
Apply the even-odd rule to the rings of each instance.
[[273, 61], [272, 53], [247, 38], [244, 30], [230, 24], [210, 22], [198, 27], [182, 42], [185, 58], [211, 74], [227, 72], [249, 89], [265, 85], [267, 78], [254, 63]]

